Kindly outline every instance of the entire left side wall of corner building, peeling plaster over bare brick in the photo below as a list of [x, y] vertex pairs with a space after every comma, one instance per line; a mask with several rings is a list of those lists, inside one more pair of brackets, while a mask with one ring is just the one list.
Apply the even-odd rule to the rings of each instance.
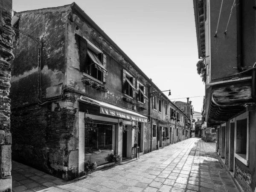
[[[38, 43], [20, 33], [12, 63], [13, 158], [65, 180], [77, 176], [76, 97], [38, 104], [65, 86], [65, 35], [70, 6], [15, 13], [19, 29], [41, 38], [41, 87], [38, 88]], [[39, 95], [39, 96], [38, 96]]]

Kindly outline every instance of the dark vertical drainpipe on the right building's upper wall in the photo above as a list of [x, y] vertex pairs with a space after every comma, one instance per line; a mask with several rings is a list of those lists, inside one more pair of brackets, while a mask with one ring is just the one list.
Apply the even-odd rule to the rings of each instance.
[[243, 52], [242, 52], [242, 1], [236, 0], [236, 30], [237, 30], [237, 68], [240, 72], [244, 71]]

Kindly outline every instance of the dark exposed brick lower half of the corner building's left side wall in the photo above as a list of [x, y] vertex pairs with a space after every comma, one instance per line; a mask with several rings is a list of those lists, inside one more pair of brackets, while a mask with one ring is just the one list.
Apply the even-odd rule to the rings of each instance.
[[13, 159], [65, 180], [75, 178], [75, 170], [68, 168], [74, 150], [68, 148], [68, 142], [74, 135], [76, 112], [59, 102], [13, 110]]

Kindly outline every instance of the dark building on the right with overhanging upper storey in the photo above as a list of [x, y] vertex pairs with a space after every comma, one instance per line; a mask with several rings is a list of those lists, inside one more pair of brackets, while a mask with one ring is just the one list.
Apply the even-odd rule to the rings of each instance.
[[255, 1], [194, 0], [205, 120], [236, 184], [256, 186]]

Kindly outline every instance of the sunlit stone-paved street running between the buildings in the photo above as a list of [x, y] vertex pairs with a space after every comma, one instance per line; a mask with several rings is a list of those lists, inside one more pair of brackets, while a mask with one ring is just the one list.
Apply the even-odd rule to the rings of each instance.
[[40, 192], [67, 191], [239, 192], [218, 161], [215, 143], [199, 138], [183, 140], [138, 160], [129, 160], [87, 178], [60, 183]]

